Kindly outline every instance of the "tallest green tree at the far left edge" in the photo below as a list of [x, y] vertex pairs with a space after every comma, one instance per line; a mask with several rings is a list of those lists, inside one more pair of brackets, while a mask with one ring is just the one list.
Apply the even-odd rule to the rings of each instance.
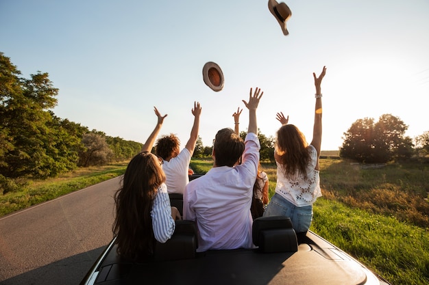
[[19, 77], [21, 72], [0, 53], [0, 174], [7, 178], [55, 176], [64, 165], [51, 157], [56, 134], [48, 109], [55, 107], [58, 89], [47, 73]]

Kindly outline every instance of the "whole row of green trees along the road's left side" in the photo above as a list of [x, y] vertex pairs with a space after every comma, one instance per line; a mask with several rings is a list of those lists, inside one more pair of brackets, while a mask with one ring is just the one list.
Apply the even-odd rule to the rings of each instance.
[[76, 167], [131, 159], [136, 141], [109, 137], [58, 118], [58, 89], [48, 73], [30, 79], [0, 53], [0, 193], [13, 191], [26, 178], [47, 178]]

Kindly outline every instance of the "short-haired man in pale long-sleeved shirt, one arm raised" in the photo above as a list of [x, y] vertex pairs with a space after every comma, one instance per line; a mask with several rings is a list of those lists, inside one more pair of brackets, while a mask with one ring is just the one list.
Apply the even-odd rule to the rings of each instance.
[[[217, 132], [213, 167], [189, 182], [184, 192], [184, 219], [197, 222], [197, 252], [208, 249], [252, 248], [253, 187], [258, 172], [260, 144], [256, 109], [262, 97], [256, 88], [249, 102], [249, 128], [243, 142], [231, 128]], [[241, 164], [237, 164], [242, 157]]]

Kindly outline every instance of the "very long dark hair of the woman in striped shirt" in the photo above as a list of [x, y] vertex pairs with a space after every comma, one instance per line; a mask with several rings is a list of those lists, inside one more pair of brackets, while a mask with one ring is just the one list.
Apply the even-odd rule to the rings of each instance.
[[164, 181], [158, 159], [150, 152], [140, 152], [128, 164], [122, 187], [114, 194], [116, 216], [112, 230], [122, 258], [145, 260], [153, 254], [155, 238], [150, 213]]

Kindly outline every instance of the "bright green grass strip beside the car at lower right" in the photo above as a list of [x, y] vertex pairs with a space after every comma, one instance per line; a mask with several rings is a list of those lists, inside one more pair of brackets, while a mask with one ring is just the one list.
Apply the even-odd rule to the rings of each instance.
[[391, 284], [429, 284], [429, 233], [395, 217], [319, 198], [310, 230]]

